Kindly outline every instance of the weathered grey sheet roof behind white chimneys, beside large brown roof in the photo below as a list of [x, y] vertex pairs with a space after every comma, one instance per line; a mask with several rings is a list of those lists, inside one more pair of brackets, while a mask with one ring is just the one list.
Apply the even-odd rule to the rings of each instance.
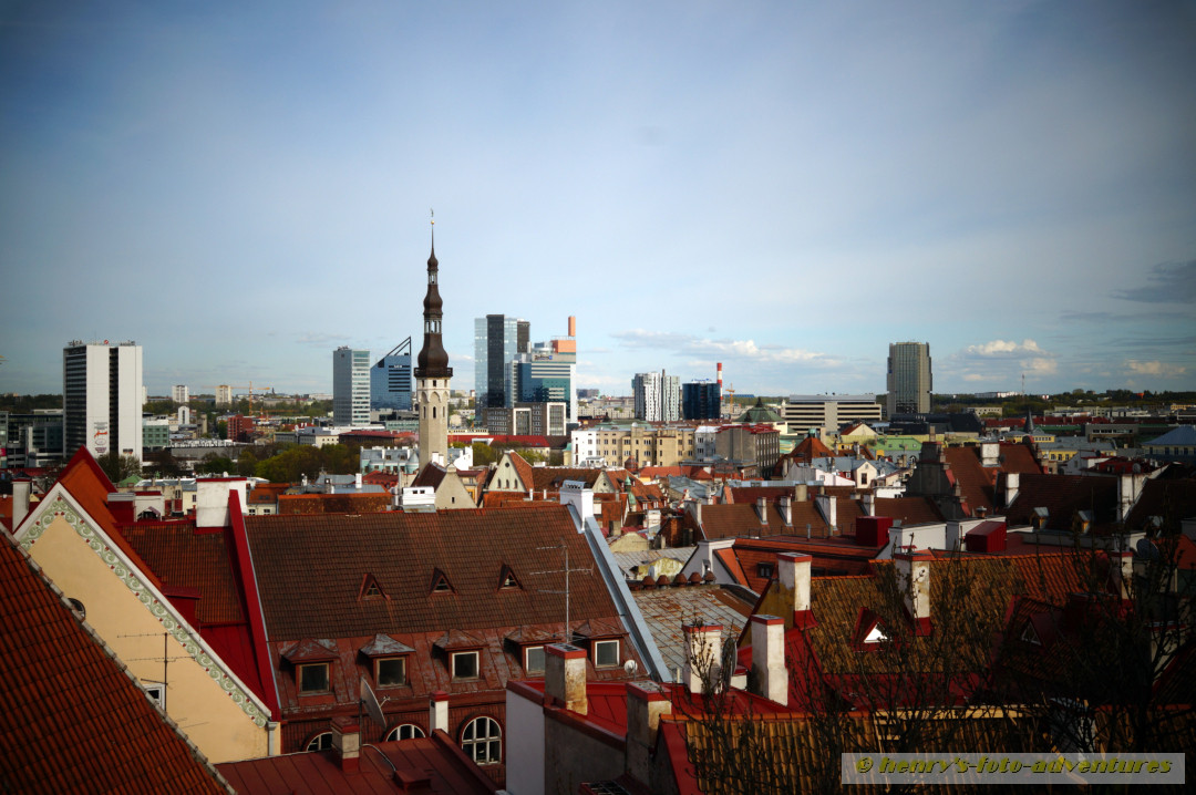
[[633, 591], [643, 620], [652, 632], [652, 640], [660, 649], [669, 675], [685, 667], [685, 638], [682, 622], [692, 624], [695, 619], [722, 626], [722, 647], [733, 643], [739, 630], [751, 617], [752, 604], [740, 599], [727, 588], [718, 586], [683, 586], [679, 588], [654, 588]]

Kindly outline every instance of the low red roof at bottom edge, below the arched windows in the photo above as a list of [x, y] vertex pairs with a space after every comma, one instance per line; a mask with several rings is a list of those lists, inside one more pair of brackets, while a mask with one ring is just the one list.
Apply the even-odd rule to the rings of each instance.
[[[395, 793], [401, 789], [396, 785], [399, 775], [413, 782], [426, 778], [427, 784], [419, 785], [423, 793], [482, 795], [498, 791], [498, 785], [444, 732], [372, 745], [377, 752], [362, 748], [360, 766], [349, 773], [341, 769], [335, 751], [232, 762], [218, 769], [240, 795]], [[380, 759], [379, 753], [386, 759]]]

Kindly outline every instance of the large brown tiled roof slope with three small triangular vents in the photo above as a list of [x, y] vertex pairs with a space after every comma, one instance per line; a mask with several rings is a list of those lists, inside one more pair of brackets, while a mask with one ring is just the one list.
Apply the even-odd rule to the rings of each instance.
[[[350, 516], [246, 516], [245, 531], [271, 641], [444, 632], [450, 628], [519, 626], [560, 622], [563, 543], [569, 568], [593, 559], [568, 509], [555, 502], [526, 508]], [[548, 549], [545, 549], [548, 548]], [[523, 588], [495, 589], [507, 561]], [[427, 595], [434, 570], [453, 593]], [[372, 573], [388, 600], [358, 600]], [[573, 618], [616, 616], [597, 570], [569, 579]]]

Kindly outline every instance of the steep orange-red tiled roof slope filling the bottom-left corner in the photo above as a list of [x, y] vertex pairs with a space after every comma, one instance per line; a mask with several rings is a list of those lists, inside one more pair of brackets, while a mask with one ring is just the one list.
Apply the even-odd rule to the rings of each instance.
[[0, 539], [0, 781], [22, 793], [227, 793], [61, 593]]

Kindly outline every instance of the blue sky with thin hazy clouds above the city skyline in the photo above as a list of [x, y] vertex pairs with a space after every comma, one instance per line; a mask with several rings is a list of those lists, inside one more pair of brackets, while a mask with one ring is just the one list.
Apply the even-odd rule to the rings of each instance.
[[474, 318], [578, 386], [1196, 389], [1196, 2], [0, 1], [0, 392], [330, 392]]

